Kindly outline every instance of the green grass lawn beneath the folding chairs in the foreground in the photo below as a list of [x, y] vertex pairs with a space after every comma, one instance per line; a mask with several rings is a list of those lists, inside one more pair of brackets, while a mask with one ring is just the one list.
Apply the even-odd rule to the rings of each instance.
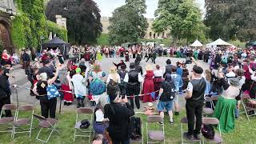
[[[36, 111], [39, 114], [39, 111]], [[72, 111], [65, 111], [62, 114], [57, 114], [58, 118], [58, 130], [61, 134], [53, 133], [50, 138], [49, 143], [73, 143], [74, 138], [74, 123], [75, 123], [75, 113]], [[143, 127], [144, 127], [144, 143], [146, 143], [146, 116], [142, 114], [137, 114], [136, 116], [142, 118]], [[184, 110], [179, 116], [174, 116], [174, 125], [170, 125], [168, 118], [165, 118], [165, 133], [166, 133], [166, 144], [171, 143], [181, 143], [181, 130], [179, 119], [185, 116]], [[1, 133], [0, 143], [41, 143], [35, 140], [36, 135], [38, 134], [39, 128], [37, 127], [37, 120], [34, 119], [34, 130], [32, 131], [31, 138], [28, 137], [28, 134], [15, 134], [14, 140], [10, 139], [10, 134]], [[150, 129], [158, 128], [159, 124], [150, 124]], [[186, 125], [184, 125], [186, 129]], [[217, 130], [215, 130], [216, 132]], [[245, 115], [242, 115], [241, 118], [238, 118], [236, 121], [235, 130], [228, 134], [222, 134], [224, 142], [228, 144], [242, 144], [242, 143], [256, 143], [256, 118], [251, 118], [251, 121], [248, 122]], [[46, 138], [45, 132], [42, 134], [42, 138]], [[75, 143], [89, 143], [87, 138], [77, 138]]]

